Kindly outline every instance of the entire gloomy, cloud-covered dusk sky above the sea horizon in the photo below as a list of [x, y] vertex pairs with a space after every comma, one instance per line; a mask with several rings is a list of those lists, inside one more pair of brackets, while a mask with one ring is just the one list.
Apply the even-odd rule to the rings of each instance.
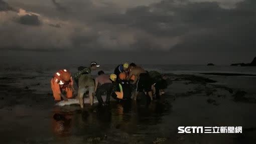
[[230, 64], [256, 56], [254, 0], [0, 0], [0, 7], [6, 63]]

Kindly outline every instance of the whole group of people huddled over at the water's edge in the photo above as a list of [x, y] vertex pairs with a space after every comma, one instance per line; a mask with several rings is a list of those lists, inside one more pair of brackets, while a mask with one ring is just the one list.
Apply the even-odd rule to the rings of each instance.
[[[94, 78], [91, 71], [96, 70], [99, 65], [91, 62], [89, 67], [78, 67], [78, 72], [74, 75], [74, 81], [78, 86], [77, 96], [80, 107], [84, 107], [83, 96], [88, 92], [90, 105], [93, 105], [95, 95], [99, 105], [109, 104], [110, 97], [116, 100], [137, 99], [139, 93], [145, 93], [153, 100], [153, 95], [160, 98], [167, 87], [166, 76], [156, 71], [148, 72], [135, 63], [124, 63], [118, 65], [114, 73], [108, 75], [104, 71], [99, 71]], [[51, 88], [55, 101], [68, 100], [73, 97], [74, 81], [71, 73], [67, 69], [61, 69], [54, 74], [51, 79]], [[66, 94], [66, 96], [64, 95]], [[102, 95], [106, 95], [106, 100], [102, 100]]]

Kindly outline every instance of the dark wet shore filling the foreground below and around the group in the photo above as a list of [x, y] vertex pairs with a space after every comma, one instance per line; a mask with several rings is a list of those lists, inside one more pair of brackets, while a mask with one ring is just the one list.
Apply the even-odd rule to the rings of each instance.
[[[1, 78], [3, 143], [254, 143], [255, 90], [228, 87], [216, 78], [168, 75], [161, 100], [111, 102], [109, 106], [54, 106], [51, 93]], [[32, 80], [31, 77], [24, 79]], [[35, 83], [35, 82], [34, 82]], [[35, 83], [37, 84], [37, 83]], [[48, 88], [35, 85], [37, 88]], [[243, 126], [240, 134], [180, 134], [178, 126]]]

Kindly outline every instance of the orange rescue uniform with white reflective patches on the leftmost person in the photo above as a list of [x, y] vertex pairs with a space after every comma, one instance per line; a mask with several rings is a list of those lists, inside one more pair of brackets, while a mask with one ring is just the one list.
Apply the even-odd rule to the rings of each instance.
[[65, 72], [68, 72], [66, 69], [59, 70], [58, 72], [55, 73], [53, 78], [51, 79], [51, 88], [53, 92], [53, 97], [54, 100], [61, 100], [61, 92], [65, 91], [66, 92], [66, 97], [67, 98], [72, 98], [73, 96], [73, 80], [70, 74], [70, 81], [65, 82], [62, 80], [61, 75]]

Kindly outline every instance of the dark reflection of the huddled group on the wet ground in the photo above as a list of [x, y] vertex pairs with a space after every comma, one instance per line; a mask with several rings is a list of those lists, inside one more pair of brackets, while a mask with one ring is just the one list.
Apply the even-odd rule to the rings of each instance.
[[111, 102], [108, 106], [93, 106], [80, 110], [79, 106], [55, 107], [52, 116], [56, 136], [122, 138], [123, 133], [149, 136], [149, 128], [160, 124], [162, 116], [170, 112], [164, 100]]

